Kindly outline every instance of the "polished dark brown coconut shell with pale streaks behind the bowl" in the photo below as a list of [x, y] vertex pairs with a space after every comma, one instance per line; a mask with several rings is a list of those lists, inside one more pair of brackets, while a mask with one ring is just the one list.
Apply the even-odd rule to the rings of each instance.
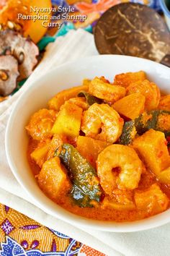
[[170, 34], [161, 16], [146, 5], [117, 4], [94, 29], [100, 54], [122, 54], [161, 61], [170, 52]]

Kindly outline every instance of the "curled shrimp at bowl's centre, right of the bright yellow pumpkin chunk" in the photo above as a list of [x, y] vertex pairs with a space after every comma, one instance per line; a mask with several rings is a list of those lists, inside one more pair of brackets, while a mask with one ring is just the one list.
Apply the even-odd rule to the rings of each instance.
[[84, 112], [81, 130], [88, 137], [113, 143], [122, 134], [123, 119], [107, 104], [94, 103]]

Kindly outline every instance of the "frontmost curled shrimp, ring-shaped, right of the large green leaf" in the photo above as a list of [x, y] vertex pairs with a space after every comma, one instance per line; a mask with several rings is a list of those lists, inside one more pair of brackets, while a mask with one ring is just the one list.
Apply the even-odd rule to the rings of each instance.
[[97, 174], [107, 195], [114, 189], [138, 187], [143, 164], [133, 148], [125, 145], [109, 145], [97, 158]]

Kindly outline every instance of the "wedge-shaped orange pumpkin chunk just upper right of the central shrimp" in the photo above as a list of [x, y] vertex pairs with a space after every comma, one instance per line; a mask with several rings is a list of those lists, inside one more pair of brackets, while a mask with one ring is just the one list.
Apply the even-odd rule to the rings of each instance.
[[112, 107], [128, 119], [135, 119], [143, 113], [146, 98], [141, 93], [133, 93], [119, 101], [115, 102]]

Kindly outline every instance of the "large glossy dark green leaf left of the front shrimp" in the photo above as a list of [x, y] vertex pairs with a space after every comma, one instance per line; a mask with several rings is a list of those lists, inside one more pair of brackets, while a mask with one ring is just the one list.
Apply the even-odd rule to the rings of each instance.
[[93, 207], [93, 201], [100, 201], [101, 188], [96, 170], [70, 144], [63, 144], [58, 154], [68, 170], [73, 183], [71, 197], [80, 207]]

